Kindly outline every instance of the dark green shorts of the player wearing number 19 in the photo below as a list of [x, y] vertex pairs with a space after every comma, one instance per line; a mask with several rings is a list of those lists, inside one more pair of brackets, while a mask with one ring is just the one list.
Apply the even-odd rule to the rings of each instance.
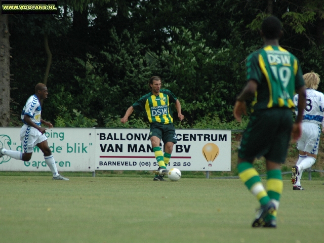
[[275, 163], [285, 163], [293, 127], [292, 110], [270, 108], [251, 114], [238, 157], [252, 162], [264, 156]]

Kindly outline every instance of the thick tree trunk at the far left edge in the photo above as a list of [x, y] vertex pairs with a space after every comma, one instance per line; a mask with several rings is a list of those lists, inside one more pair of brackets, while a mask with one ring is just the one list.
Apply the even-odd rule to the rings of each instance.
[[10, 46], [8, 15], [0, 14], [0, 127], [10, 122]]

